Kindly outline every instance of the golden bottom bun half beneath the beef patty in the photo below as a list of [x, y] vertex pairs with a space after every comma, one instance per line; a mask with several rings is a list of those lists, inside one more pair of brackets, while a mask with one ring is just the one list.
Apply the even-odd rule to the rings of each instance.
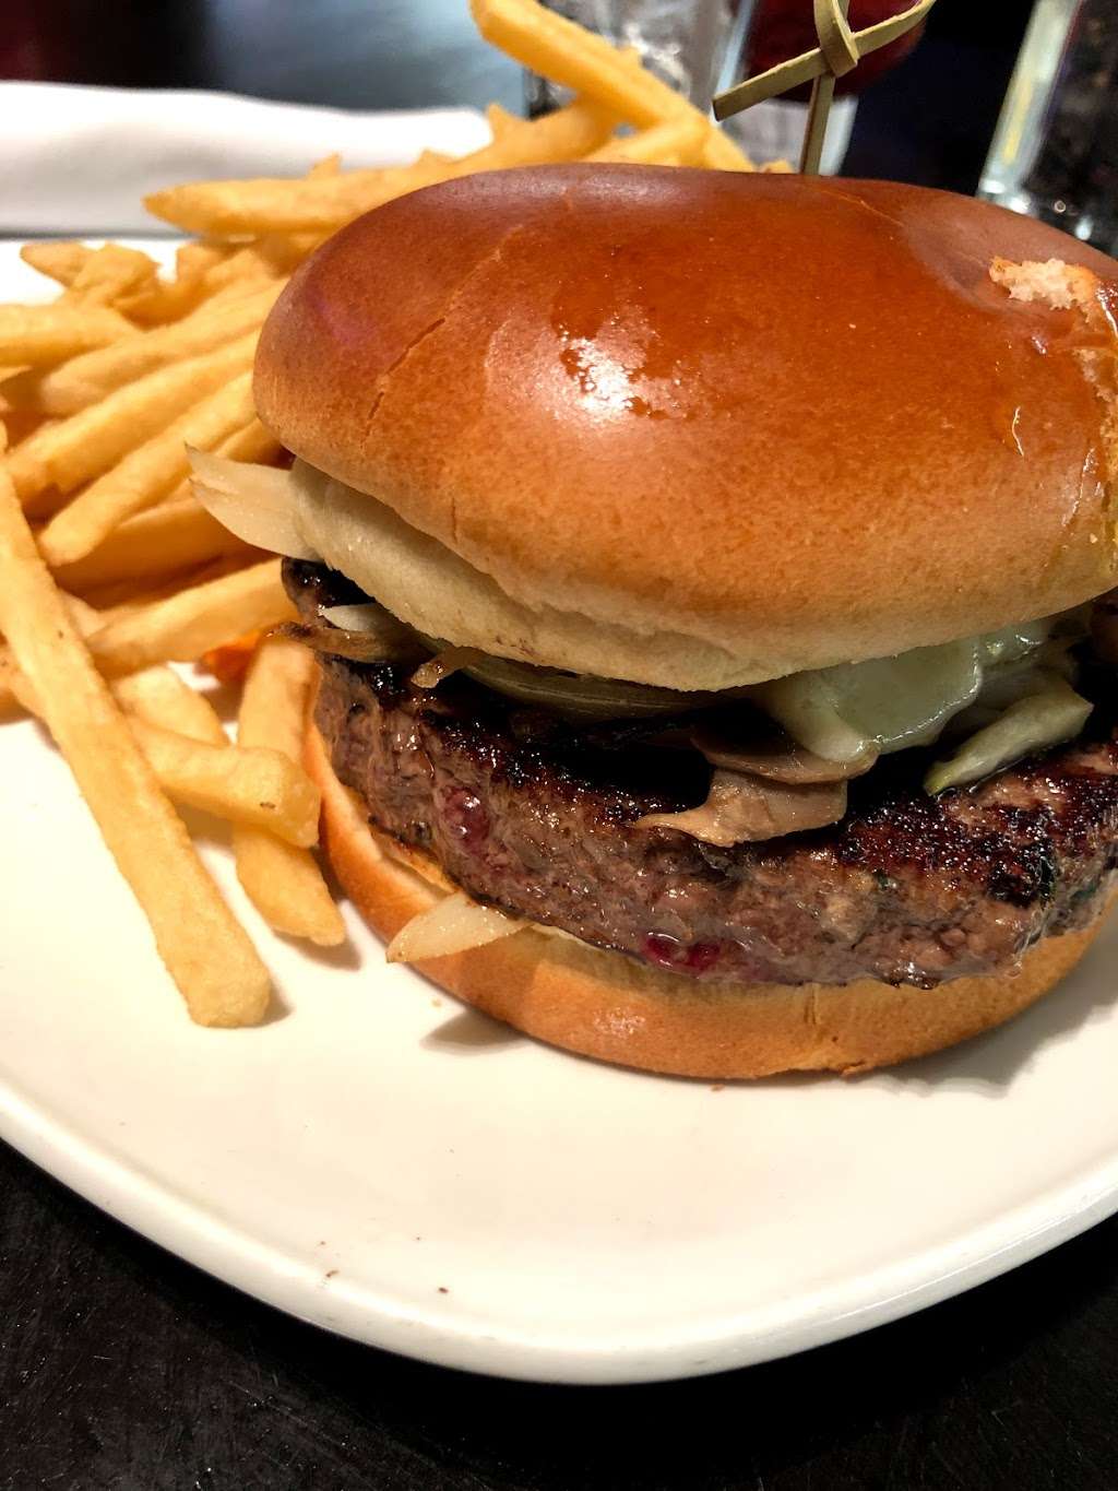
[[[449, 883], [428, 856], [370, 829], [313, 726], [307, 768], [322, 789], [326, 856], [370, 926], [391, 939]], [[1099, 932], [1038, 942], [1014, 972], [938, 989], [710, 984], [659, 972], [565, 933], [526, 924], [498, 942], [414, 966], [526, 1035], [602, 1062], [677, 1077], [868, 1072], [1002, 1024], [1046, 993]]]

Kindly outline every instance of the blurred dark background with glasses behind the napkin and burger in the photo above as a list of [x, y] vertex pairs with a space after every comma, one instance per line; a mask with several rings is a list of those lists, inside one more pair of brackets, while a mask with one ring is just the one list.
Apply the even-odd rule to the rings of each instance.
[[[851, 24], [906, 3], [853, 0]], [[736, 81], [814, 37], [811, 0], [555, 4], [638, 46], [665, 13], [677, 30], [714, 28], [710, 73], [689, 79], [704, 103], [719, 76]], [[4, 0], [3, 15], [6, 79], [207, 88], [344, 109], [496, 100], [525, 112], [550, 101], [479, 39], [467, 0]], [[729, 55], [717, 55], [727, 37]], [[668, 75], [669, 51], [659, 57]], [[863, 64], [856, 88], [836, 128], [850, 131], [845, 174], [981, 188], [1114, 249], [1118, 0], [939, 0], [923, 34]], [[748, 146], [756, 124], [745, 116], [735, 128]]]

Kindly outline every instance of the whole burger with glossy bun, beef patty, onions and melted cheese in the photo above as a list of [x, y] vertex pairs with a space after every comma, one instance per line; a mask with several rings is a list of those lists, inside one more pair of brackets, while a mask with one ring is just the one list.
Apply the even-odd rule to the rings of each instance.
[[1118, 264], [891, 182], [558, 166], [264, 327], [325, 851], [392, 956], [708, 1078], [985, 1030], [1118, 863]]

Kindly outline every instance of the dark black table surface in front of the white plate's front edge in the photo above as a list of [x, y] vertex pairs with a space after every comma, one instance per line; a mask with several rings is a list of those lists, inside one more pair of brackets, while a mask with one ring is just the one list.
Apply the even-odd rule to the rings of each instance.
[[690, 1382], [560, 1388], [326, 1336], [1, 1148], [0, 1194], [4, 1491], [1118, 1485], [1118, 1220], [802, 1357]]

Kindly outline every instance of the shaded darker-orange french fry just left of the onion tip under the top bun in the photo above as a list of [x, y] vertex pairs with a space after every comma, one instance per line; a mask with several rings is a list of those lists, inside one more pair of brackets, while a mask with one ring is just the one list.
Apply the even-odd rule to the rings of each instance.
[[55, 580], [64, 590], [83, 593], [137, 576], [158, 581], [225, 555], [247, 558], [253, 553], [256, 550], [210, 517], [197, 498], [186, 495], [130, 517], [85, 559], [57, 570]]

